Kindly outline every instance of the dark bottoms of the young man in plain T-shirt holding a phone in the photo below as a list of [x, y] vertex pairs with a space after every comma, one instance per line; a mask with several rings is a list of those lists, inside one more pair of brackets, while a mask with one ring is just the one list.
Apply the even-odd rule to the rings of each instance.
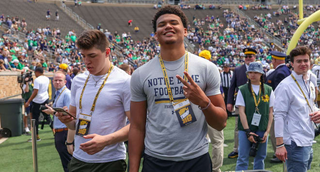
[[124, 159], [102, 163], [87, 163], [72, 157], [69, 172], [126, 172], [127, 164]]

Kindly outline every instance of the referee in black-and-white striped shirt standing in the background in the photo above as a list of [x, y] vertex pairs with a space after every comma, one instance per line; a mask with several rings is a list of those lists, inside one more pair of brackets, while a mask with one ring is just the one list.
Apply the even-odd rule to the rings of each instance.
[[[231, 84], [231, 78], [233, 76], [233, 71], [230, 70], [229, 63], [224, 62], [224, 71], [220, 73], [221, 76], [221, 86], [224, 89], [224, 104], [226, 106], [228, 99], [228, 90]], [[231, 116], [232, 113], [227, 110], [228, 116]]]

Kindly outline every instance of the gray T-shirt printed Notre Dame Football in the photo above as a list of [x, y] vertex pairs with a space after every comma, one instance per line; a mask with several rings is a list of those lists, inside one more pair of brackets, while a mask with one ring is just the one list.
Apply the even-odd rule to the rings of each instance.
[[[188, 73], [207, 96], [220, 94], [218, 68], [208, 60], [189, 53]], [[175, 100], [184, 99], [183, 84], [176, 75], [184, 76], [185, 55], [176, 61], [163, 61]], [[131, 101], [147, 101], [144, 153], [159, 159], [184, 161], [208, 153], [207, 121], [197, 105], [191, 103], [196, 121], [181, 127], [169, 101], [159, 58], [136, 69], [131, 76]]]

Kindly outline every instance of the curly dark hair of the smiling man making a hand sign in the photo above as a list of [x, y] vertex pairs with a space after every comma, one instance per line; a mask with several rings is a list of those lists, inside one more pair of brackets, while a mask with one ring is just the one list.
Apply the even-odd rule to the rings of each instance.
[[178, 17], [180, 17], [183, 27], [187, 28], [188, 25], [188, 19], [186, 17], [186, 15], [183, 13], [183, 11], [179, 8], [177, 8], [176, 6], [173, 5], [166, 5], [162, 8], [160, 8], [160, 10], [156, 13], [156, 15], [153, 17], [152, 20], [152, 25], [153, 25], [153, 31], [157, 32], [157, 20], [160, 16], [165, 15], [165, 14], [174, 14]]

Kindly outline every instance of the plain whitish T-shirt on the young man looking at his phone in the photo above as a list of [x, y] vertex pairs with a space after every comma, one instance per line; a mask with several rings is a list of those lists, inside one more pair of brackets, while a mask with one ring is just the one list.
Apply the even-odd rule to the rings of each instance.
[[[77, 118], [80, 113], [80, 94], [88, 75], [89, 72], [86, 71], [75, 76], [72, 81], [70, 105], [77, 107]], [[82, 96], [81, 111], [83, 114], [90, 114], [90, 109], [96, 93], [106, 76], [94, 76], [96, 81], [102, 77], [97, 82], [96, 86], [96, 82], [90, 76]], [[89, 135], [98, 134], [104, 136], [120, 130], [126, 125], [127, 116], [125, 112], [129, 110], [130, 75], [125, 71], [114, 67], [96, 101], [95, 111], [92, 114], [89, 127]], [[76, 121], [76, 126], [78, 125], [78, 121], [79, 118]], [[79, 146], [81, 143], [89, 140], [91, 139], [85, 139], [77, 135], [75, 136], [75, 150], [73, 152], [75, 158], [88, 163], [102, 163], [126, 159], [126, 147], [123, 142], [106, 146], [102, 151], [95, 155], [88, 155], [83, 152]]]

